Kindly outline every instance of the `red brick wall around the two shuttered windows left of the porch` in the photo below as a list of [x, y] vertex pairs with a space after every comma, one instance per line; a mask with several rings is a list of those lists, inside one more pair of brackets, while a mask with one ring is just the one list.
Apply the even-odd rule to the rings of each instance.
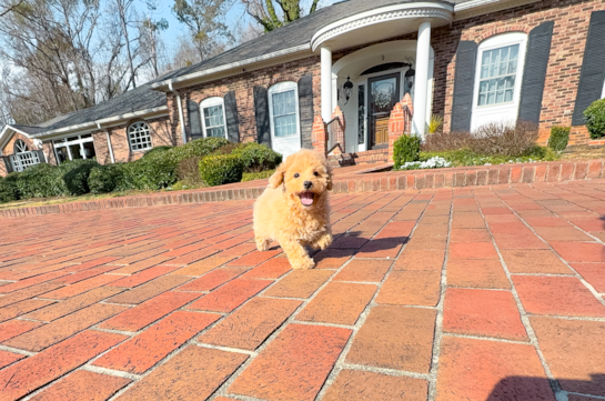
[[[279, 66], [263, 68], [256, 71], [245, 72], [240, 76], [224, 78], [219, 81], [196, 84], [179, 90], [181, 94], [185, 127], [189, 137], [189, 113], [186, 101], [201, 102], [211, 97], [224, 97], [226, 92], [234, 90], [238, 101], [238, 118], [240, 122], [240, 141], [251, 142], [256, 139], [256, 121], [254, 117], [254, 87], [269, 88], [273, 83], [282, 81], [298, 82], [302, 77], [313, 77], [313, 110], [315, 114], [321, 113], [320, 99], [320, 58], [313, 56], [306, 59], [286, 62]], [[175, 108], [173, 96], [169, 93], [169, 110], [173, 128], [180, 136], [179, 114]]]

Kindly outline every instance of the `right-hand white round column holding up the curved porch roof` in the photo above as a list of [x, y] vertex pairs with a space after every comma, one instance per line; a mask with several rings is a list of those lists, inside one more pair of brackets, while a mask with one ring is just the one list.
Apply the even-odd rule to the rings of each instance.
[[414, 77], [414, 117], [412, 131], [424, 138], [426, 99], [428, 98], [428, 58], [431, 56], [431, 22], [422, 22], [416, 44], [416, 76]]

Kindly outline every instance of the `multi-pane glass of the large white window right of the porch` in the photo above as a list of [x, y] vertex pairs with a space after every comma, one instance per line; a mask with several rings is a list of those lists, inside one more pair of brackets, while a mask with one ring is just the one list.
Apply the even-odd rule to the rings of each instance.
[[518, 61], [518, 44], [482, 53], [478, 106], [513, 101]]

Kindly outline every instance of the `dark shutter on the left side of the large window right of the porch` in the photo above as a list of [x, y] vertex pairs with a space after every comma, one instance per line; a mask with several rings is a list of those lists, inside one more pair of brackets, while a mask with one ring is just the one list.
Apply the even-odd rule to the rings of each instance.
[[456, 50], [452, 131], [471, 131], [477, 43], [463, 40]]

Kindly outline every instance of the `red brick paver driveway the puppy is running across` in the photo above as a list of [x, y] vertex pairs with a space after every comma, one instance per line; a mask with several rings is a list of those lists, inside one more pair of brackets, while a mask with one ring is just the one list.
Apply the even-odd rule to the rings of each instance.
[[0, 220], [0, 400], [605, 398], [604, 180], [335, 196], [311, 271], [251, 205]]

